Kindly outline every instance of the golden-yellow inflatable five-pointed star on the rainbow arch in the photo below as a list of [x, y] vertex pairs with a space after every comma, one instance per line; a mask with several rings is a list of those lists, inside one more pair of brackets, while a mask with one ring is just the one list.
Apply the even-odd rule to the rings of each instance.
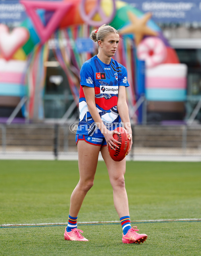
[[128, 12], [128, 17], [131, 24], [125, 27], [121, 34], [134, 34], [136, 46], [142, 41], [144, 36], [157, 36], [157, 32], [153, 31], [147, 27], [146, 23], [151, 18], [152, 14], [150, 12], [143, 15], [142, 18], [137, 18], [131, 11]]

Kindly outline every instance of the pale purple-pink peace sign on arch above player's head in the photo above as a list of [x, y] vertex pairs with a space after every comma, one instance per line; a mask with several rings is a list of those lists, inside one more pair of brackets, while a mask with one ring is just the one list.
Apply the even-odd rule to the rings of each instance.
[[[85, 11], [85, 2], [86, 1], [87, 0], [81, 1], [79, 11], [80, 11], [81, 18], [87, 24], [94, 26], [94, 27], [98, 27], [100, 25], [103, 25], [104, 23], [109, 23], [115, 16], [115, 11], [116, 11], [115, 0], [111, 0], [113, 2], [113, 10], [112, 10], [112, 14], [110, 16], [106, 16], [106, 14], [104, 13], [104, 11], [100, 5], [101, 0], [97, 0], [95, 7], [87, 14]], [[99, 21], [93, 20], [93, 17], [96, 13], [99, 14], [99, 16], [101, 17], [101, 20], [99, 20]]]

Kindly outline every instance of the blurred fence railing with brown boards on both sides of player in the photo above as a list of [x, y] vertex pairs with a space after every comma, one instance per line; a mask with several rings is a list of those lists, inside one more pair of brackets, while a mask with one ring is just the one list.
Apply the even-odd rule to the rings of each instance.
[[[76, 152], [70, 123], [0, 124], [0, 153]], [[201, 125], [135, 125], [131, 155], [201, 154]]]

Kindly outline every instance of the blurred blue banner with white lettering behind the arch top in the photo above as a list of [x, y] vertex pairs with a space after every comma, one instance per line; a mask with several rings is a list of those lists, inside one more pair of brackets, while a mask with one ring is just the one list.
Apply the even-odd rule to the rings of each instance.
[[[54, 0], [58, 1], [58, 0]], [[201, 0], [123, 0], [155, 22], [201, 22]], [[22, 22], [27, 17], [19, 0], [0, 1], [0, 23]]]

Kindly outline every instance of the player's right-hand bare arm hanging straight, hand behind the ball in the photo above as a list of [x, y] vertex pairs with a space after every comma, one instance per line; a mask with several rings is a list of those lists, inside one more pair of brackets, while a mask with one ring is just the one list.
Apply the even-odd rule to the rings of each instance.
[[129, 118], [129, 113], [128, 113], [128, 105], [126, 102], [126, 87], [125, 86], [119, 86], [117, 110], [118, 110], [121, 120], [124, 124], [124, 127], [129, 134], [130, 147], [129, 147], [129, 150], [127, 153], [127, 155], [128, 155], [129, 152], [131, 151], [133, 141], [132, 141], [131, 123], [130, 123], [130, 118]]

